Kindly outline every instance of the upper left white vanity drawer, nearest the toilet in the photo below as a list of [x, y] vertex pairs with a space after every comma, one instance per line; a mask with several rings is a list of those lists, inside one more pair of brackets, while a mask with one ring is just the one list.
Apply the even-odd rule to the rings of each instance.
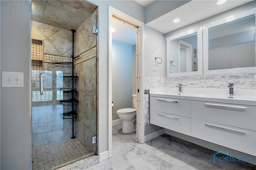
[[190, 117], [190, 100], [150, 97], [150, 110]]

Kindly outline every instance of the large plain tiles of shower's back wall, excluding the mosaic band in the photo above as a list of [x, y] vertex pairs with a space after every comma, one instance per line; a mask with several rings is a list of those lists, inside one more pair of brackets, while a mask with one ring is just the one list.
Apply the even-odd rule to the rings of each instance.
[[[32, 21], [32, 39], [44, 41], [44, 53], [72, 55], [72, 31]], [[60, 43], [61, 42], [61, 43]], [[67, 139], [72, 136], [71, 119], [63, 119], [63, 112], [70, 111], [70, 106], [60, 105], [60, 88], [70, 88], [71, 81], [62, 79], [59, 72], [70, 72], [72, 67], [64, 64], [44, 62], [44, 95], [47, 100], [32, 102], [32, 147]], [[57, 73], [58, 71], [58, 73]], [[32, 92], [39, 91], [39, 81], [32, 81]], [[39, 95], [40, 96], [40, 95]], [[32, 98], [35, 97], [32, 95]], [[65, 99], [71, 98], [64, 94]]]

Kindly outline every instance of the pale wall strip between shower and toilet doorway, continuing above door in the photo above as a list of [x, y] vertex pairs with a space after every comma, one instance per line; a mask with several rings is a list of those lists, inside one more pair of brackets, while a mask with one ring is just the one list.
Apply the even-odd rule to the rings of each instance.
[[[99, 45], [99, 115], [98, 152], [108, 150], [108, 6], [112, 6], [140, 21], [144, 21], [144, 7], [135, 1], [91, 0], [98, 5]], [[101, 160], [101, 158], [100, 158]]]

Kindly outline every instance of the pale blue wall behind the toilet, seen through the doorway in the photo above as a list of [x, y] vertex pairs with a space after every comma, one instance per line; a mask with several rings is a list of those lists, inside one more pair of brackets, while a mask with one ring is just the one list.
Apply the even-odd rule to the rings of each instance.
[[132, 107], [132, 45], [112, 41], [112, 120], [118, 109]]

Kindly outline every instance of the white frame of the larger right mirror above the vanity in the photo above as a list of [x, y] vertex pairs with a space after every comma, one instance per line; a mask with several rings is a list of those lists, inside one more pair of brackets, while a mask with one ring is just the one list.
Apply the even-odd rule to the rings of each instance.
[[[240, 18], [244, 18], [246, 16], [250, 16], [255, 14], [256, 8], [252, 8], [250, 10], [246, 10], [244, 12], [240, 12], [238, 14], [228, 16], [226, 18], [222, 18], [221, 20], [217, 20], [203, 26], [203, 54], [204, 54], [204, 75], [214, 75], [214, 74], [238, 74], [238, 73], [255, 73], [256, 67], [244, 67], [244, 68], [227, 68], [227, 69], [219, 69], [219, 70], [208, 70], [209, 63], [208, 63], [208, 29], [217, 25], [221, 25], [224, 23], [228, 23], [230, 21], [238, 20]], [[256, 27], [256, 26], [255, 26]], [[254, 27], [254, 28], [255, 28]]]

